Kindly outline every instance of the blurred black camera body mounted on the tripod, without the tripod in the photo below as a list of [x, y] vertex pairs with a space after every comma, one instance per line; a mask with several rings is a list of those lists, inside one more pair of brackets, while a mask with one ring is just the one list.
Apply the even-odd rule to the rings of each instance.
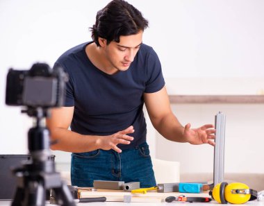
[[29, 70], [9, 69], [6, 79], [6, 104], [32, 108], [63, 106], [67, 74], [62, 68], [51, 69], [36, 63]]

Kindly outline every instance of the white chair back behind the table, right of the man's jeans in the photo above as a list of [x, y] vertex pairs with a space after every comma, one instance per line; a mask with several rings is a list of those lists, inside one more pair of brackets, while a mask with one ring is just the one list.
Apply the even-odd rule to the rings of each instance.
[[180, 163], [152, 158], [153, 170], [156, 182], [174, 183], [180, 182]]

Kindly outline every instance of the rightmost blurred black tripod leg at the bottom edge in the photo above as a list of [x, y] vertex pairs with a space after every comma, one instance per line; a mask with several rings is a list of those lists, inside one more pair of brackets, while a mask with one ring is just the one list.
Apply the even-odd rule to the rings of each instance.
[[74, 198], [72, 197], [69, 187], [66, 184], [62, 184], [58, 188], [53, 188], [56, 195], [56, 200], [59, 205], [62, 206], [75, 206]]

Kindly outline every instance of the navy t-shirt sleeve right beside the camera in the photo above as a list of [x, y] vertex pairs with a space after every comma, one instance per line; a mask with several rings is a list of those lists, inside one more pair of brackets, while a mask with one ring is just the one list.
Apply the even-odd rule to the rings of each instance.
[[60, 65], [58, 62], [55, 62], [53, 69], [56, 67], [61, 67], [63, 68], [63, 70], [67, 73], [69, 80], [66, 83], [66, 94], [65, 94], [65, 103], [64, 106], [65, 107], [72, 107], [74, 106], [74, 85], [72, 83], [72, 78], [70, 76], [70, 74], [67, 72], [67, 70], [65, 69], [65, 67], [63, 67], [62, 65]]

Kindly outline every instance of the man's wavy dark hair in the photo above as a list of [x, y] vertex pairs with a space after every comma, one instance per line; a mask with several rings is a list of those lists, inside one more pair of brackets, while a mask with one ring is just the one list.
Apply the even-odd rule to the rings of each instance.
[[97, 12], [96, 22], [90, 30], [92, 40], [100, 46], [98, 37], [106, 39], [107, 44], [119, 42], [120, 35], [134, 35], [144, 31], [148, 24], [134, 6], [123, 0], [113, 0]]

